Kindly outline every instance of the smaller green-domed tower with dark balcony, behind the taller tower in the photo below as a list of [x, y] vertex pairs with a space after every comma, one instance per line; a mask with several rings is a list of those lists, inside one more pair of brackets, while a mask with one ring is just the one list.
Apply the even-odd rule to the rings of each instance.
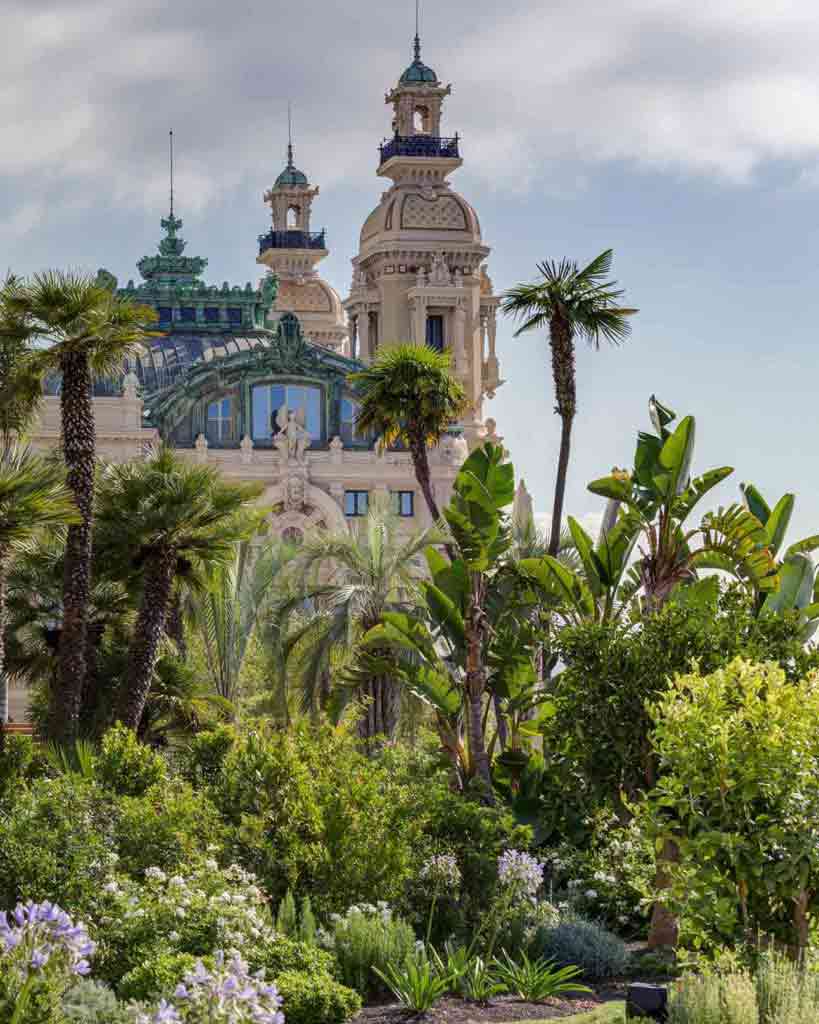
[[341, 298], [315, 269], [329, 255], [326, 232], [310, 230], [317, 195], [318, 187], [311, 185], [294, 163], [291, 136], [287, 166], [263, 197], [270, 207], [272, 229], [259, 236], [256, 262], [269, 267], [278, 278], [278, 295], [268, 324], [274, 326], [283, 313], [295, 313], [305, 337], [343, 353], [347, 325]]

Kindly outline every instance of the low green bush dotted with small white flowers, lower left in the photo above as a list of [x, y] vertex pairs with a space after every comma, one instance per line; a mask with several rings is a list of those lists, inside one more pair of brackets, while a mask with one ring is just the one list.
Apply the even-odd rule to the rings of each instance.
[[228, 955], [272, 941], [267, 897], [255, 876], [238, 864], [221, 868], [208, 858], [184, 874], [148, 867], [139, 885], [111, 879], [96, 914], [100, 975], [117, 985], [159, 946], [206, 956]]

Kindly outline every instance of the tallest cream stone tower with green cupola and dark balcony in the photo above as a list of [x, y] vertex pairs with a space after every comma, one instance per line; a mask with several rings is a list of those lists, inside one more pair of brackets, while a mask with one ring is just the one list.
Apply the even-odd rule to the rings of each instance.
[[483, 398], [501, 383], [495, 355], [495, 312], [473, 208], [449, 175], [461, 167], [458, 135], [441, 134], [443, 85], [414, 59], [391, 89], [392, 137], [381, 145], [377, 173], [391, 185], [361, 228], [353, 281], [344, 303], [351, 354], [368, 361], [379, 347], [413, 341], [451, 353], [470, 409], [462, 421], [470, 446], [485, 433]]

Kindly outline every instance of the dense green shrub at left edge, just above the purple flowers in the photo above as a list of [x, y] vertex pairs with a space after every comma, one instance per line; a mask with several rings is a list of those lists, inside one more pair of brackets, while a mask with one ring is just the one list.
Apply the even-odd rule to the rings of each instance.
[[76, 776], [21, 788], [0, 814], [0, 907], [48, 899], [84, 916], [116, 864], [113, 811]]

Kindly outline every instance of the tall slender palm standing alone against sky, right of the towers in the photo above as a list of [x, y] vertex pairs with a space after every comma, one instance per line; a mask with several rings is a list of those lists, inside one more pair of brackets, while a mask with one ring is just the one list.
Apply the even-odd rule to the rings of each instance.
[[578, 268], [569, 260], [540, 263], [541, 281], [518, 285], [504, 296], [501, 308], [508, 315], [523, 319], [515, 337], [527, 331], [549, 328], [552, 350], [552, 379], [561, 419], [560, 456], [555, 480], [555, 502], [552, 511], [552, 532], [549, 554], [556, 557], [560, 547], [563, 498], [566, 492], [571, 450], [571, 425], [576, 412], [576, 381], [574, 372], [574, 338], [586, 338], [594, 348], [605, 338], [612, 345], [624, 341], [631, 334], [627, 317], [638, 312], [619, 305], [622, 292], [616, 282], [608, 281], [612, 250], [606, 249], [588, 266]]

